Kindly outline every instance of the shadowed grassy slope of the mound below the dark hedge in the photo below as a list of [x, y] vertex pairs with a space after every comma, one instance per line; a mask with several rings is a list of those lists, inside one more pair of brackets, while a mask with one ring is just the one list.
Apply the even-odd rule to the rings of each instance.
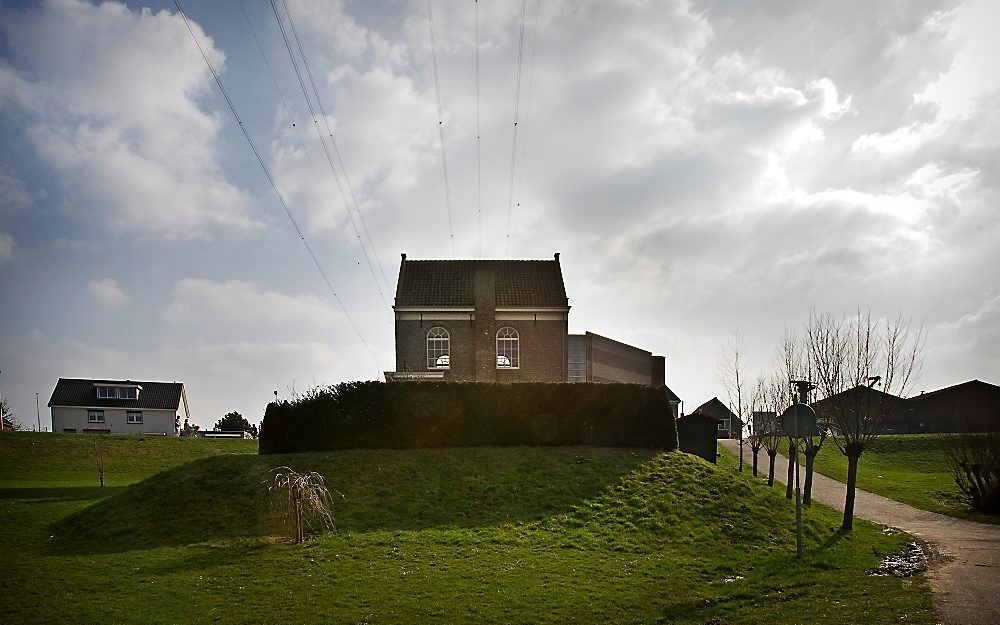
[[288, 465], [317, 471], [344, 532], [474, 527], [564, 512], [655, 454], [600, 448], [351, 450], [216, 456], [155, 475], [52, 529], [67, 550], [135, 549], [280, 531], [264, 482]]

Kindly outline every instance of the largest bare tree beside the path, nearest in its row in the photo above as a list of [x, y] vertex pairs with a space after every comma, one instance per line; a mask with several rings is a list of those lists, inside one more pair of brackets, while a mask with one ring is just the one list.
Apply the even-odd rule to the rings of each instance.
[[[902, 315], [872, 320], [871, 313], [837, 319], [811, 315], [806, 347], [812, 374], [824, 396], [822, 418], [836, 428], [834, 443], [847, 456], [847, 499], [842, 528], [854, 526], [858, 459], [882, 433], [919, 374], [923, 327]], [[874, 389], [881, 385], [882, 391]]]

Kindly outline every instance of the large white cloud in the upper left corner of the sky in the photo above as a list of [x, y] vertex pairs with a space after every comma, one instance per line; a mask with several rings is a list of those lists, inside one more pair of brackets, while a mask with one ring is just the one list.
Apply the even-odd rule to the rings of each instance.
[[[257, 227], [222, 171], [226, 119], [199, 104], [214, 83], [179, 16], [50, 0], [0, 21], [18, 60], [0, 68], [0, 106], [31, 120], [38, 154], [85, 194], [77, 210], [171, 238]], [[193, 28], [221, 71], [224, 55]]]

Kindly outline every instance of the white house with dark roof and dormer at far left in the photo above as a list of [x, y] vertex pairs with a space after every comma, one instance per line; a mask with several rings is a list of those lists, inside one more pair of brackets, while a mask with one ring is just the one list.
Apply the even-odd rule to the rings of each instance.
[[49, 400], [53, 432], [177, 436], [190, 417], [184, 384], [59, 378]]

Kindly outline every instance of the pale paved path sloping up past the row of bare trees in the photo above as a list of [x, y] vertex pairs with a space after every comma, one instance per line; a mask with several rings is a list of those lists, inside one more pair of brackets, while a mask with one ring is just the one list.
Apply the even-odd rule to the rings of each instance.
[[[738, 441], [723, 441], [735, 454]], [[744, 462], [753, 462], [744, 445]], [[767, 475], [767, 454], [761, 453], [761, 469]], [[752, 465], [751, 465], [752, 466]], [[864, 463], [860, 470], [864, 470]], [[788, 460], [778, 455], [775, 481], [784, 484]], [[847, 485], [816, 474], [813, 499], [844, 510]], [[931, 547], [927, 579], [934, 591], [934, 606], [944, 625], [997, 625], [1000, 623], [1000, 525], [974, 523], [918, 510], [892, 499], [858, 489], [854, 516], [891, 525], [920, 537]]]

